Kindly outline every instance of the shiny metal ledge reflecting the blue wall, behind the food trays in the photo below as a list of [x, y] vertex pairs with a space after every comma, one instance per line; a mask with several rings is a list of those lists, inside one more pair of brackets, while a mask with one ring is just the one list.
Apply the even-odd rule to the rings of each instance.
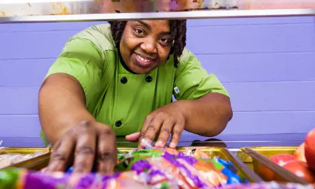
[[[227, 147], [239, 149], [249, 146], [298, 146], [305, 140], [306, 134], [270, 134], [270, 135], [220, 135], [215, 138], [201, 137], [194, 134], [183, 134], [179, 147]], [[2, 147], [44, 147], [40, 137], [3, 137]], [[117, 138], [118, 147], [136, 147], [134, 142], [126, 142], [125, 138]]]

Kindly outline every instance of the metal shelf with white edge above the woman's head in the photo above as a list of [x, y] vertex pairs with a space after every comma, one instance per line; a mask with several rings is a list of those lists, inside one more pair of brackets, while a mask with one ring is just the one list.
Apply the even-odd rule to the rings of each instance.
[[312, 16], [312, 0], [7, 0], [0, 23]]

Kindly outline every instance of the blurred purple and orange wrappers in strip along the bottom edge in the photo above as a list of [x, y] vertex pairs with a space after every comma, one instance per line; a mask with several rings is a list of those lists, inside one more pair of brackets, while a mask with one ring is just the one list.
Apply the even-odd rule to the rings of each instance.
[[[163, 175], [163, 173], [155, 172]], [[0, 189], [83, 189], [83, 188], [102, 188], [102, 189], [124, 189], [124, 188], [181, 188], [175, 180], [160, 182], [159, 184], [145, 184], [145, 177], [148, 175], [139, 175], [134, 171], [116, 173], [114, 175], [90, 174], [69, 174], [69, 173], [45, 173], [30, 172], [20, 168], [9, 168], [0, 171]], [[199, 187], [192, 187], [199, 188]], [[202, 188], [202, 187], [201, 187]], [[279, 184], [275, 181], [262, 182], [259, 184], [228, 184], [225, 186], [212, 186], [209, 189], [311, 189], [312, 185], [304, 186], [300, 184]]]

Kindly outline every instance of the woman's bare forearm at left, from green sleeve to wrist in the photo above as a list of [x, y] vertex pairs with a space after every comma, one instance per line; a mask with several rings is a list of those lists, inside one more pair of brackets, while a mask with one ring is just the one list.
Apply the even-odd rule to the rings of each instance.
[[68, 127], [81, 121], [95, 121], [86, 110], [84, 90], [70, 75], [51, 75], [38, 95], [40, 124], [51, 144], [55, 144]]

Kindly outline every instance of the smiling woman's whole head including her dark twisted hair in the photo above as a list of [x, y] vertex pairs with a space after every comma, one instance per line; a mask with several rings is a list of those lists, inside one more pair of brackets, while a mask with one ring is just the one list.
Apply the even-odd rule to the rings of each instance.
[[[186, 46], [186, 20], [113, 22], [112, 34], [127, 66], [136, 73], [145, 73], [166, 62], [170, 54], [177, 66], [177, 58]], [[157, 44], [143, 40], [157, 40]]]

